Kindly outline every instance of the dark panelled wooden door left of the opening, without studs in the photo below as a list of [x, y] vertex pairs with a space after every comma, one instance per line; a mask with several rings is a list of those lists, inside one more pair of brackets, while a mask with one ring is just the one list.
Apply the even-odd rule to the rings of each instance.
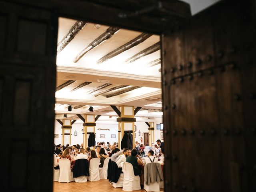
[[0, 141], [4, 191], [51, 191], [57, 22], [0, 2]]

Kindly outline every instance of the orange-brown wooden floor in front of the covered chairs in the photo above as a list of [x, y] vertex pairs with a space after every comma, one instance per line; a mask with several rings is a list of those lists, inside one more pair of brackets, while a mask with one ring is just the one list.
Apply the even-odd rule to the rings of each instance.
[[[114, 188], [108, 182], [108, 180], [100, 180], [94, 182], [85, 182], [85, 183], [59, 183], [58, 181], [53, 182], [53, 192], [118, 192], [123, 191], [122, 187]], [[160, 189], [160, 191], [164, 191]], [[137, 190], [136, 192], [146, 192], [146, 190]]]

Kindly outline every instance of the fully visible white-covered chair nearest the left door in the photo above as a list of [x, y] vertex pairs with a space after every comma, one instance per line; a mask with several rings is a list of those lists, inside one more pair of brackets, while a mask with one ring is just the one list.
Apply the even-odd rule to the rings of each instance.
[[70, 170], [70, 160], [68, 159], [60, 159], [60, 178], [59, 182], [71, 182], [74, 181], [73, 173]]

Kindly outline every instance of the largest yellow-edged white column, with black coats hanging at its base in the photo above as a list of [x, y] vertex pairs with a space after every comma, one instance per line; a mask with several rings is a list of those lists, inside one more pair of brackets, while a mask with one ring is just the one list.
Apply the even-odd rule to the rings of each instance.
[[134, 143], [134, 106], [119, 106], [119, 111], [121, 112], [118, 121], [118, 144], [121, 147], [121, 141], [124, 136], [124, 131], [132, 131], [132, 140]]

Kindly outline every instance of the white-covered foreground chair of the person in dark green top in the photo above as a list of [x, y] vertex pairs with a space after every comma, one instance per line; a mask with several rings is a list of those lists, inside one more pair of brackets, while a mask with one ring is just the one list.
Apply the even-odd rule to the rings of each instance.
[[124, 172], [123, 190], [124, 191], [141, 190], [140, 176], [134, 175], [132, 164], [128, 162], [124, 162], [123, 172]]

